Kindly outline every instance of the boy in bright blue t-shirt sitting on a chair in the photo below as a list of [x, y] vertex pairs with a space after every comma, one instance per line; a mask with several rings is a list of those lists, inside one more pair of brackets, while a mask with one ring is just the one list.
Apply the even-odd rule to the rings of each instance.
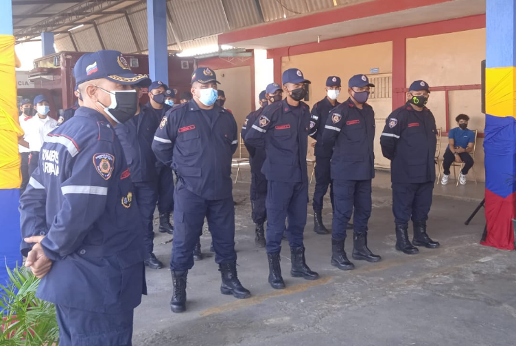
[[473, 151], [475, 145], [475, 132], [467, 129], [469, 116], [466, 114], [458, 114], [455, 118], [458, 127], [450, 129], [448, 132], [448, 147], [446, 148], [443, 162], [443, 179], [441, 184], [448, 184], [449, 167], [451, 162], [464, 162], [464, 167], [460, 171], [459, 182], [461, 185], [466, 184], [466, 175], [473, 166], [473, 158], [469, 155]]

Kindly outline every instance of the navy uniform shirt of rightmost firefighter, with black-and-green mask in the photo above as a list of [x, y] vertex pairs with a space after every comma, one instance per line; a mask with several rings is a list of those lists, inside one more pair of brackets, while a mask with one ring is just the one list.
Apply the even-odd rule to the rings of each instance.
[[407, 102], [388, 116], [380, 145], [390, 160], [393, 183], [435, 180], [436, 134], [434, 114], [428, 108], [418, 112]]

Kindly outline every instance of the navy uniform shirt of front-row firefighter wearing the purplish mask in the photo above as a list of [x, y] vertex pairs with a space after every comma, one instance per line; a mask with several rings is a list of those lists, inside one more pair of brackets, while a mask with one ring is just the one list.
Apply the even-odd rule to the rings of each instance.
[[347, 99], [331, 110], [322, 143], [331, 156], [331, 179], [369, 180], [375, 177], [375, 112], [367, 103], [360, 110]]

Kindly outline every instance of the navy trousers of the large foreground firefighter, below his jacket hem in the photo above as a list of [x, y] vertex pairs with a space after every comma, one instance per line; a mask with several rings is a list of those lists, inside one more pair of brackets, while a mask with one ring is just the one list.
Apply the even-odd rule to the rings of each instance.
[[59, 346], [131, 346], [133, 310], [102, 314], [56, 305]]

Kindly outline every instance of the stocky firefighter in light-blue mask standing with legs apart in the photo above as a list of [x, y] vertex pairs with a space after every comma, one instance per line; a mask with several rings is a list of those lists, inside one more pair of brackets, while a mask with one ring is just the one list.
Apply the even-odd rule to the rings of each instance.
[[215, 72], [196, 69], [191, 83], [193, 99], [167, 112], [152, 143], [156, 158], [172, 166], [178, 177], [170, 259], [173, 312], [186, 310], [187, 274], [193, 267], [193, 248], [204, 217], [222, 275], [220, 292], [239, 299], [250, 297], [238, 280], [236, 267], [231, 157], [238, 147], [237, 123], [231, 113], [215, 105]]

